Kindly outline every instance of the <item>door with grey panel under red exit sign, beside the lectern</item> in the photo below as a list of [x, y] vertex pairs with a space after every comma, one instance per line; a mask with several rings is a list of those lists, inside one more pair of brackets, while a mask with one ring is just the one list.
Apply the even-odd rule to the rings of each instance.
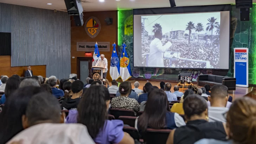
[[77, 77], [81, 81], [83, 81], [84, 84], [86, 84], [86, 78], [92, 78], [92, 58], [84, 58], [84, 57], [78, 57], [77, 58]]

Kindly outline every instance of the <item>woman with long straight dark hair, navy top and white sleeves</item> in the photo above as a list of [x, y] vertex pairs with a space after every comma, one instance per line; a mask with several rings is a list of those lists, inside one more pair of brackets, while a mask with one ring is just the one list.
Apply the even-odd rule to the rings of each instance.
[[172, 130], [186, 125], [178, 113], [170, 112], [166, 93], [160, 89], [154, 89], [150, 92], [145, 110], [136, 120], [137, 125], [135, 121], [135, 128], [137, 126], [142, 136], [147, 128]]

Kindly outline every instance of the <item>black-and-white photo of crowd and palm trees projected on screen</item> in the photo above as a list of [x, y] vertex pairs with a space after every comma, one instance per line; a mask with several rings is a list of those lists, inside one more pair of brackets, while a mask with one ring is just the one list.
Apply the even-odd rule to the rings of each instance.
[[219, 35], [220, 12], [142, 16], [141, 63], [162, 67], [154, 62], [162, 55], [163, 67], [219, 68]]

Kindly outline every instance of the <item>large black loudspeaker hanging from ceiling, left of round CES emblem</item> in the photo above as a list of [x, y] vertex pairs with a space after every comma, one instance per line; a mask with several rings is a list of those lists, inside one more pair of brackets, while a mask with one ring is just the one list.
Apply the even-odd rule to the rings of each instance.
[[65, 0], [66, 8], [69, 15], [73, 15], [76, 26], [83, 26], [83, 6], [81, 0]]

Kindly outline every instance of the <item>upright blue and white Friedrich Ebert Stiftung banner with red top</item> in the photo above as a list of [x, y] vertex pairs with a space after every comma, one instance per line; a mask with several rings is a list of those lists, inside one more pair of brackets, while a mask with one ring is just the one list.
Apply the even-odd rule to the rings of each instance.
[[236, 86], [248, 87], [248, 48], [234, 48]]

